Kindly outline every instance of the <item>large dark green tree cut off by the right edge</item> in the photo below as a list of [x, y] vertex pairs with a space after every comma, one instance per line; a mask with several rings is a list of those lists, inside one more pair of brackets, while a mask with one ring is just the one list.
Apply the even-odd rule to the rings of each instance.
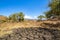
[[60, 0], [51, 0], [49, 7], [51, 9], [45, 13], [46, 17], [60, 19]]

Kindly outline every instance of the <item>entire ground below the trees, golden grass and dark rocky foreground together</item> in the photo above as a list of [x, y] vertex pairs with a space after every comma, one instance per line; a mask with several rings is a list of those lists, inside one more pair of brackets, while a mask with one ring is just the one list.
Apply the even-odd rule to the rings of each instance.
[[60, 21], [29, 20], [0, 24], [0, 40], [20, 40], [20, 38], [21, 40], [60, 40], [58, 35], [60, 35]]

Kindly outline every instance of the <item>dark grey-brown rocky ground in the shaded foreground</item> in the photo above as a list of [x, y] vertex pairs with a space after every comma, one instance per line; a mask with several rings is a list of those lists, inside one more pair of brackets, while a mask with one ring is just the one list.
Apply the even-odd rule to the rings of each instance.
[[18, 28], [0, 40], [60, 40], [60, 30], [46, 28]]

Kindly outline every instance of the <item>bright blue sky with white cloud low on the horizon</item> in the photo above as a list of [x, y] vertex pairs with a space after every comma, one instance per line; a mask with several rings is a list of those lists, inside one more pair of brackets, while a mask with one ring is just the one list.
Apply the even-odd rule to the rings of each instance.
[[49, 0], [0, 0], [0, 15], [23, 12], [25, 18], [36, 18], [48, 11]]

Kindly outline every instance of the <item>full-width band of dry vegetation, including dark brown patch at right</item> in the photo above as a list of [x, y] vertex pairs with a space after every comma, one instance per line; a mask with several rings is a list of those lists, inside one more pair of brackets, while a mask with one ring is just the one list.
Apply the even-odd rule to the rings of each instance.
[[[30, 28], [30, 27], [41, 27], [41, 28], [49, 28], [49, 29], [58, 29], [60, 30], [60, 21], [24, 21], [24, 22], [4, 22], [0, 23], [0, 36], [5, 34], [12, 33], [12, 29], [14, 28]], [[52, 25], [52, 26], [50, 26]], [[54, 27], [56, 25], [56, 27]]]

